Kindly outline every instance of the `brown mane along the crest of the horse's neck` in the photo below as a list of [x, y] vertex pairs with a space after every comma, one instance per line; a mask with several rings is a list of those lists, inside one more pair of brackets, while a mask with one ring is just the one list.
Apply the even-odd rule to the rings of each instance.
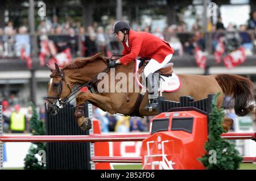
[[97, 54], [94, 54], [91, 57], [79, 57], [79, 58], [76, 58], [73, 62], [64, 65], [62, 69], [65, 70], [65, 69], [78, 69], [78, 68], [82, 68], [83, 66], [85, 66], [89, 62], [92, 62], [92, 61], [97, 60], [97, 59], [101, 59], [106, 64], [108, 64], [108, 62], [107, 62], [108, 58], [107, 57], [102, 57], [101, 53], [97, 53]]

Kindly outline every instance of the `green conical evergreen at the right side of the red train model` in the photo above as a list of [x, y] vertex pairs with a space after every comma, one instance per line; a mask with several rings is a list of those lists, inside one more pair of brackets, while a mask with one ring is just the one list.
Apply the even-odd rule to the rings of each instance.
[[236, 170], [239, 169], [243, 158], [239, 156], [233, 143], [221, 137], [224, 132], [221, 125], [224, 110], [217, 109], [216, 100], [219, 95], [220, 92], [213, 97], [212, 112], [209, 114], [209, 140], [205, 142], [207, 154], [199, 160], [208, 170]]

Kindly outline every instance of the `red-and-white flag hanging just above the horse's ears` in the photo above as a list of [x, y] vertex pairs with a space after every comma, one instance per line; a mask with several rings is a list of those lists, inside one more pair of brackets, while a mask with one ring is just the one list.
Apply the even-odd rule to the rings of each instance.
[[68, 64], [72, 61], [72, 55], [71, 55], [71, 49], [66, 48], [62, 52], [56, 54], [55, 57], [51, 58], [51, 60], [48, 61], [49, 66], [55, 67], [55, 62], [60, 66], [60, 68]]

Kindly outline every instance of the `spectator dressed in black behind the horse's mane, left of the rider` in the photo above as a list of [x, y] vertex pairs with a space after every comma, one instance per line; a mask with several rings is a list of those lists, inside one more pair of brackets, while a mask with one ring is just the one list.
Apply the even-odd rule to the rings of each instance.
[[96, 45], [96, 33], [91, 32], [89, 37], [85, 38], [85, 56], [93, 56], [98, 52], [97, 45]]

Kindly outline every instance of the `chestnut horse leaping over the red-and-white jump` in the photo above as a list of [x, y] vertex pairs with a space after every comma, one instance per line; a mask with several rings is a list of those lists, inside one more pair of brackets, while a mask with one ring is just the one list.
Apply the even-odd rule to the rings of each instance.
[[[118, 84], [118, 79], [114, 83], [111, 82], [108, 76], [99, 79], [100, 73], [110, 75], [108, 68], [109, 58], [101, 56], [100, 53], [91, 57], [76, 58], [73, 62], [64, 65], [60, 68], [55, 64], [55, 69], [49, 67], [51, 70], [51, 81], [48, 83], [47, 93], [47, 111], [53, 115], [57, 113], [59, 108], [63, 107], [74, 91], [77, 91], [79, 85], [88, 86], [92, 91], [80, 91], [76, 95], [76, 111], [75, 117], [79, 127], [85, 131], [90, 129], [91, 123], [88, 117], [84, 115], [84, 103], [88, 100], [94, 106], [101, 108], [111, 114], [120, 113], [126, 116], [153, 116], [157, 115], [157, 111], [148, 111], [144, 107], [148, 104], [147, 92], [138, 101], [141, 90], [135, 82], [135, 77], [129, 79], [123, 84], [123, 87], [133, 87], [132, 91], [117, 91], [115, 86]], [[114, 73], [125, 74], [129, 77], [129, 73], [134, 73], [135, 62], [132, 61], [128, 65], [117, 65]], [[249, 79], [241, 77], [240, 75], [230, 74], [216, 74], [216, 75], [178, 75], [181, 82], [179, 90], [174, 92], [163, 92], [163, 96], [167, 100], [179, 102], [180, 96], [192, 96], [194, 100], [207, 98], [209, 94], [220, 95], [217, 98], [217, 108], [221, 108], [225, 95], [228, 95], [234, 101], [234, 110], [238, 116], [245, 116], [253, 111], [254, 106], [254, 84]], [[105, 87], [110, 87], [114, 91], [101, 91], [99, 86], [102, 81], [105, 81]], [[119, 80], [120, 81], [120, 80]], [[81, 87], [81, 86], [80, 86]], [[75, 89], [75, 90], [74, 90]], [[137, 114], [134, 113], [137, 111]], [[225, 118], [222, 121], [222, 127], [228, 131], [232, 126], [233, 120]]]

